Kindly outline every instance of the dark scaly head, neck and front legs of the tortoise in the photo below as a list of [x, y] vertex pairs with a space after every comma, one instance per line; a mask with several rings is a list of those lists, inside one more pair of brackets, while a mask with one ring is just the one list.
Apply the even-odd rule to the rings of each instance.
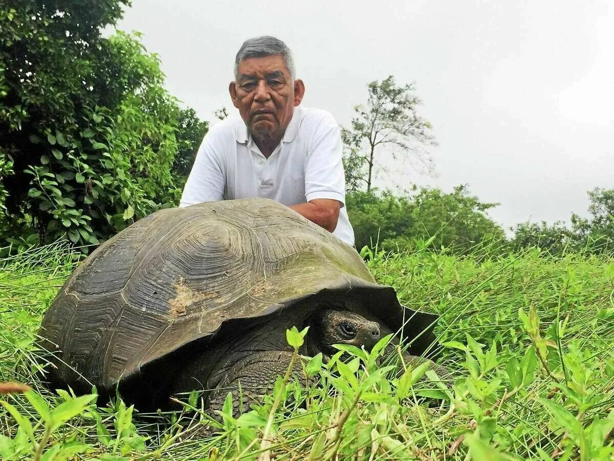
[[[368, 320], [347, 310], [316, 310], [305, 319], [276, 317], [193, 358], [177, 375], [171, 392], [203, 390], [205, 409], [216, 420], [221, 419], [217, 412], [222, 409], [228, 392], [233, 395], [233, 416], [249, 411], [251, 403], [261, 403], [262, 395], [273, 389], [277, 377], [286, 374], [292, 358], [292, 348], [286, 342], [286, 329], [297, 323], [309, 325], [300, 353], [313, 357], [322, 352], [325, 360], [336, 352], [333, 344], [351, 344], [370, 350], [380, 336], [391, 333], [383, 322]], [[397, 353], [396, 344], [398, 342], [391, 342], [387, 346], [384, 357]], [[427, 360], [408, 353], [403, 353], [403, 358], [414, 366]], [[298, 361], [293, 374], [306, 384]]]

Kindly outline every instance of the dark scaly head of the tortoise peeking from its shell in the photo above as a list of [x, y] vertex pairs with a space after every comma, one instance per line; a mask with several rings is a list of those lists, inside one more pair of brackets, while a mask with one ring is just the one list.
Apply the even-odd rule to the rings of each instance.
[[337, 352], [333, 344], [363, 346], [370, 350], [379, 341], [379, 324], [349, 310], [318, 310], [307, 324], [309, 355], [322, 352], [330, 357]]

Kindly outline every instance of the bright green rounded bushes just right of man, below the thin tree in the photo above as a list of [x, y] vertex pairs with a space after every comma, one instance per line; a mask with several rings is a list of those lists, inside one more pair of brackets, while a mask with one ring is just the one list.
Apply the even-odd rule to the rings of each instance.
[[389, 192], [350, 192], [348, 215], [354, 227], [356, 247], [386, 250], [416, 248], [430, 239], [434, 249], [466, 253], [482, 242], [503, 241], [500, 226], [486, 215], [497, 203], [483, 203], [467, 186], [453, 192], [414, 187], [413, 195], [395, 197]]

